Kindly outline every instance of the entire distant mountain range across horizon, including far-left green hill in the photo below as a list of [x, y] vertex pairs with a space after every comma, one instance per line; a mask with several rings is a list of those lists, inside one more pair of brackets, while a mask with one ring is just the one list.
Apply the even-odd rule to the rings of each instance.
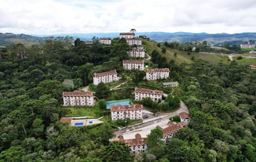
[[[135, 33], [135, 36], [145, 35], [147, 38], [153, 39], [156, 42], [192, 42], [192, 41], [207, 41], [214, 45], [220, 45], [227, 43], [230, 45], [238, 45], [241, 43], [255, 42], [256, 33], [237, 33], [237, 34], [207, 34], [207, 33], [166, 33], [166, 32], [142, 32]], [[65, 37], [72, 36], [74, 39], [80, 38], [82, 40], [90, 40], [92, 37], [119, 37], [119, 33], [88, 33], [88, 34], [54, 34], [54, 35], [25, 35], [25, 34], [12, 34], [12, 33], [0, 33], [0, 46], [6, 46], [14, 43], [24, 43], [25, 45], [31, 45], [35, 43], [43, 42], [44, 37]]]

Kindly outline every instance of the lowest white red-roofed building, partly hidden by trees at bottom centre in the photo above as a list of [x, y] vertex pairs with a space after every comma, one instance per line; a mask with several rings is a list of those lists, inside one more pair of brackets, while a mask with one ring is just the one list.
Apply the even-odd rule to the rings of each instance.
[[114, 141], [124, 142], [131, 149], [131, 154], [136, 155], [140, 152], [145, 152], [147, 149], [146, 140], [148, 138], [142, 138], [139, 133], [135, 134], [135, 139], [127, 139], [124, 140], [122, 135], [119, 135]]

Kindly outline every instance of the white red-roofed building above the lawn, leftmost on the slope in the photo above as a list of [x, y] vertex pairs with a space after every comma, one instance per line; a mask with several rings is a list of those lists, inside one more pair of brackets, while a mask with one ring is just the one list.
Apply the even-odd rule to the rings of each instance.
[[94, 99], [92, 92], [63, 92], [63, 106], [93, 106]]

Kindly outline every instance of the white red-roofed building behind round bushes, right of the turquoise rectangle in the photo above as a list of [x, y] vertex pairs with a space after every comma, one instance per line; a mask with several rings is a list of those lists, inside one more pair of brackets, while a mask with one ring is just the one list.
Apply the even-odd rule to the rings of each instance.
[[162, 100], [163, 91], [149, 90], [146, 88], [135, 88], [135, 100], [141, 101], [143, 98], [151, 98], [153, 101]]

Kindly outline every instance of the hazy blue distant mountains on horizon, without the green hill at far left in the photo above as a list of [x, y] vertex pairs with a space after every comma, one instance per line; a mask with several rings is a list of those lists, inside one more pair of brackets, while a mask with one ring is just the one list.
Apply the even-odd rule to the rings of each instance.
[[[88, 34], [57, 34], [57, 35], [34, 35], [37, 37], [47, 37], [47, 36], [73, 36], [74, 38], [80, 38], [83, 40], [90, 40], [93, 36], [95, 37], [119, 37], [119, 33], [88, 33]], [[219, 45], [222, 43], [228, 43], [230, 45], [247, 43], [256, 41], [256, 33], [237, 33], [237, 34], [207, 34], [207, 33], [166, 33], [166, 32], [142, 32], [135, 33], [135, 36], [145, 35], [156, 42], [190, 42], [190, 41], [207, 41], [207, 43], [212, 43]]]

